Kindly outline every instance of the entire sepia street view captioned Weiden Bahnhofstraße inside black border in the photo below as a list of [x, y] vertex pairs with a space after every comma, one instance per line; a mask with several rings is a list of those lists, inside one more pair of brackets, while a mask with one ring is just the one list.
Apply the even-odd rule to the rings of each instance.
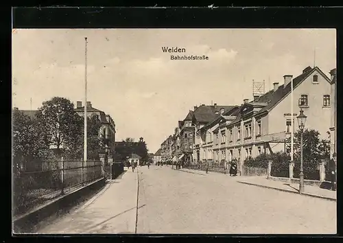
[[13, 29], [12, 233], [337, 233], [335, 29]]

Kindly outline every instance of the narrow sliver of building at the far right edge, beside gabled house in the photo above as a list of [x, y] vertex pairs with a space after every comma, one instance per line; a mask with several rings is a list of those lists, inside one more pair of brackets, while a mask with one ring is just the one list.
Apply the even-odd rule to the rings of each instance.
[[[331, 97], [330, 100], [330, 109], [331, 109], [331, 126], [330, 126], [330, 158], [334, 152], [337, 153], [337, 130], [336, 130], [336, 82], [337, 82], [337, 71], [336, 69], [332, 69], [330, 71], [331, 74]], [[327, 102], [327, 101], [326, 101]], [[324, 104], [323, 104], [324, 105]]]

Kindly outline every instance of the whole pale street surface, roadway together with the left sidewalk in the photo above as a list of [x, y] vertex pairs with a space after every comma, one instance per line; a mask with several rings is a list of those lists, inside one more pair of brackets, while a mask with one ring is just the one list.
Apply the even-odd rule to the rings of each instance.
[[39, 233], [336, 233], [335, 202], [238, 179], [170, 166], [138, 167]]

